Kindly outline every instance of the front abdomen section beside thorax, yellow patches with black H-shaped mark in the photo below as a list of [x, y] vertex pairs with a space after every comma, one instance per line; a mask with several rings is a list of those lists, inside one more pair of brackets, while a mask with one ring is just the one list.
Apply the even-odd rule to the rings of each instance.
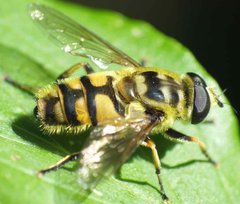
[[92, 125], [124, 114], [124, 108], [113, 87], [113, 80], [114, 77], [103, 74], [91, 74], [80, 79]]

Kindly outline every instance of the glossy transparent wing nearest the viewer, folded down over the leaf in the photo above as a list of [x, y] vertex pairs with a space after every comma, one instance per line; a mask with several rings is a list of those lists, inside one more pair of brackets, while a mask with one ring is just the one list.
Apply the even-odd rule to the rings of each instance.
[[80, 157], [79, 183], [93, 188], [99, 180], [113, 173], [134, 152], [156, 125], [150, 118], [118, 119], [96, 126]]

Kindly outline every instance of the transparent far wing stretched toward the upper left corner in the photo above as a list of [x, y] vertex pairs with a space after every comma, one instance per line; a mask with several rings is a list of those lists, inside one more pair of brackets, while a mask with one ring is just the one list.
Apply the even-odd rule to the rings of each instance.
[[48, 32], [64, 52], [87, 57], [103, 69], [112, 63], [128, 67], [140, 66], [122, 51], [52, 8], [31, 4], [29, 12], [31, 18]]

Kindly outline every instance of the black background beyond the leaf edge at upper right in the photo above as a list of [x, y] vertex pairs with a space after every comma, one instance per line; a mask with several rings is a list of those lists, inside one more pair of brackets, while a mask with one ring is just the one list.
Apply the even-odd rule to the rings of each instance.
[[[71, 0], [143, 19], [188, 47], [240, 111], [239, 0]], [[238, 114], [239, 117], [239, 114]]]

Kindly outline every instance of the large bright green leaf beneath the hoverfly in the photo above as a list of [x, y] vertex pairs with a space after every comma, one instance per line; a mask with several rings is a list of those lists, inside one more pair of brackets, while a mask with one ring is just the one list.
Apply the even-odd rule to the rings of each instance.
[[[147, 23], [121, 14], [60, 1], [39, 1], [101, 35], [136, 60], [179, 74], [196, 72], [221, 91], [194, 56], [174, 39]], [[27, 14], [30, 1], [0, 3], [0, 75], [33, 86], [54, 81], [63, 70], [83, 59], [61, 52]], [[207, 51], [207, 50], [206, 50]], [[66, 168], [36, 177], [36, 171], [80, 150], [87, 133], [43, 134], [32, 116], [33, 97], [0, 81], [0, 201], [1, 203], [159, 203], [158, 182], [151, 152], [139, 147], [115, 176], [101, 182], [96, 192], [78, 191], [74, 162]], [[224, 98], [226, 101], [226, 99]], [[176, 124], [196, 135], [220, 163], [204, 162], [196, 145], [174, 144], [154, 136], [163, 163], [162, 179], [172, 203], [239, 203], [240, 151], [238, 122], [229, 106], [213, 108], [212, 124]], [[75, 188], [76, 187], [76, 188]]]

